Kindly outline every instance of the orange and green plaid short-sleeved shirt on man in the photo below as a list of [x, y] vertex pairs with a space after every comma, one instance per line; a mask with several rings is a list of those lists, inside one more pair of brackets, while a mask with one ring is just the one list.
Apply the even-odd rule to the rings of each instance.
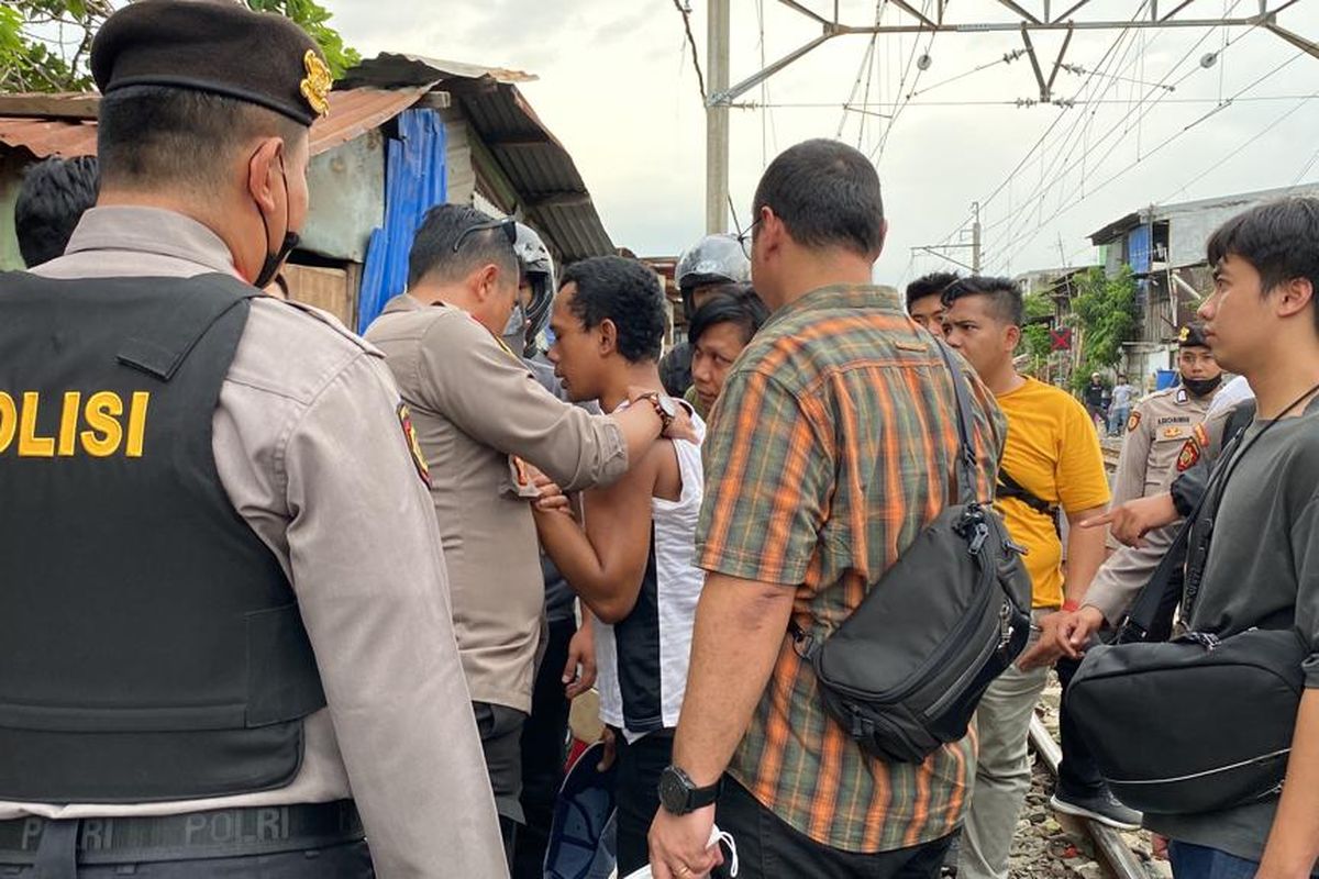
[[[988, 498], [1006, 424], [969, 366], [963, 373]], [[699, 565], [795, 588], [795, 621], [824, 637], [955, 497], [956, 451], [951, 376], [897, 294], [815, 290], [765, 324], [715, 406]], [[919, 766], [865, 756], [826, 714], [785, 635], [728, 771], [823, 845], [890, 851], [958, 828], [975, 747], [968, 737]]]

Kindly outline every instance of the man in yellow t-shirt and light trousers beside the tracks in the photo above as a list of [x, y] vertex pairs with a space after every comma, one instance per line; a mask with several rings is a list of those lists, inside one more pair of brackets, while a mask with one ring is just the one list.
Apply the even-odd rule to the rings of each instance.
[[[1017, 373], [1021, 291], [1006, 278], [971, 277], [943, 294], [944, 337], [962, 352], [1008, 416], [1008, 444], [998, 472], [997, 505], [1013, 539], [1026, 547], [1037, 626], [1043, 630], [1016, 668], [991, 685], [976, 713], [980, 752], [959, 875], [1006, 879], [1008, 851], [1030, 788], [1026, 738], [1049, 667], [1062, 654], [1051, 637], [1060, 609], [1075, 610], [1104, 560], [1104, 535], [1076, 527], [1104, 510], [1108, 478], [1099, 438], [1084, 407], [1067, 393]], [[1067, 517], [1067, 573], [1059, 510]], [[1075, 656], [1072, 656], [1075, 659]], [[1070, 677], [1063, 672], [1064, 677]], [[1112, 799], [1097, 771], [1066, 729], [1066, 768], [1059, 795], [1087, 817], [1129, 825], [1138, 816]], [[1075, 789], [1072, 789], [1075, 788]]]

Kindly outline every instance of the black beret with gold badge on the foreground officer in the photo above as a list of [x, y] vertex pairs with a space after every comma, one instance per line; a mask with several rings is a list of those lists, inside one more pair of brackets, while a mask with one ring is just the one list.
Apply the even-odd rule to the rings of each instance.
[[232, 0], [140, 0], [91, 47], [102, 94], [168, 86], [223, 95], [310, 125], [328, 112], [330, 69], [293, 21]]

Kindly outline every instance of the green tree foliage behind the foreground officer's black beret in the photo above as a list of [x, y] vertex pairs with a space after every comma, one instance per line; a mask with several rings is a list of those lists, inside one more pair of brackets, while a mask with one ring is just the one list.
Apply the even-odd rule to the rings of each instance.
[[[247, 0], [297, 21], [335, 79], [360, 61], [314, 0]], [[87, 55], [100, 25], [124, 0], [0, 0], [0, 92], [90, 91]]]

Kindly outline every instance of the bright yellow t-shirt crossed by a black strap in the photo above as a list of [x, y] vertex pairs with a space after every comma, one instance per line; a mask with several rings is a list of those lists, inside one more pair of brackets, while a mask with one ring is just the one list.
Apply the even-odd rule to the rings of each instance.
[[[998, 406], [1008, 416], [1002, 469], [1012, 478], [1042, 501], [1062, 506], [1064, 513], [1108, 503], [1099, 435], [1075, 398], [1028, 378], [1017, 390], [1000, 395]], [[1030, 573], [1034, 606], [1060, 608], [1063, 547], [1054, 523], [1017, 498], [1004, 498], [996, 506], [1013, 540], [1029, 550], [1022, 561]]]

